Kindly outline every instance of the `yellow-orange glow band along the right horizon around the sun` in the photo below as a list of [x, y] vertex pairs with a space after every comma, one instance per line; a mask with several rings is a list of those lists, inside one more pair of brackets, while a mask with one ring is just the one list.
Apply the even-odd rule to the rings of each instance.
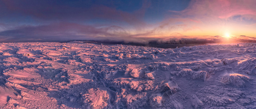
[[[175, 19], [174, 19], [175, 20]], [[152, 24], [148, 25], [143, 30], [133, 30], [130, 31], [133, 35], [138, 35], [137, 37], [172, 37], [172, 36], [248, 36], [256, 37], [255, 25], [244, 25], [241, 23], [223, 23], [213, 22], [205, 25], [203, 23], [191, 23], [184, 21], [184, 25], [173, 26], [163, 24]], [[168, 21], [166, 21], [168, 23]], [[196, 25], [196, 27], [195, 27]], [[243, 27], [243, 28], [242, 28]], [[149, 34], [143, 34], [149, 33]], [[229, 35], [227, 35], [229, 34]], [[143, 36], [141, 36], [143, 35]]]

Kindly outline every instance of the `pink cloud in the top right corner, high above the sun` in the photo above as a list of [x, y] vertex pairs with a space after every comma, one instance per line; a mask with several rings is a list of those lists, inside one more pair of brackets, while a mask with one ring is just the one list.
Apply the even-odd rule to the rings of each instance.
[[255, 3], [255, 0], [192, 0], [190, 5], [177, 15], [199, 19], [209, 17], [227, 19], [234, 15], [256, 15]]

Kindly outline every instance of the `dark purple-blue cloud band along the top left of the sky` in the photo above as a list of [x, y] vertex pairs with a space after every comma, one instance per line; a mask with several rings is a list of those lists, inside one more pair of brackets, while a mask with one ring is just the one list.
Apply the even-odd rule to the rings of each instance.
[[[66, 21], [83, 22], [90, 20], [107, 20], [108, 22], [125, 22], [132, 26], [144, 25], [141, 20], [147, 2], [143, 2], [142, 7], [134, 13], [117, 10], [115, 6], [106, 6], [97, 1], [59, 1], [59, 0], [2, 0], [5, 4], [6, 13], [19, 13], [25, 16], [32, 16], [37, 21]], [[95, 2], [95, 3], [94, 3]], [[103, 2], [108, 4], [108, 2]], [[73, 5], [72, 5], [73, 4]]]

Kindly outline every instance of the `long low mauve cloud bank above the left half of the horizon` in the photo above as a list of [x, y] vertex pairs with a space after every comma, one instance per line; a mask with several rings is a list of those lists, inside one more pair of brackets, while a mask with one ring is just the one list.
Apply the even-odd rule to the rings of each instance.
[[93, 26], [75, 23], [24, 26], [18, 29], [0, 32], [0, 36], [8, 37], [8, 41], [10, 42], [86, 40], [90, 37], [123, 36], [125, 34], [126, 32], [118, 26], [95, 28]]

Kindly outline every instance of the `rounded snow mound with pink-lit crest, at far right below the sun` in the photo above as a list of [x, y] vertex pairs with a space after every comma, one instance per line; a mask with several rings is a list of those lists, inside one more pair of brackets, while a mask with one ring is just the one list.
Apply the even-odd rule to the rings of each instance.
[[249, 81], [249, 77], [243, 74], [233, 73], [226, 75], [222, 78], [224, 84], [232, 84], [236, 87], [242, 87], [245, 84], [245, 81]]

